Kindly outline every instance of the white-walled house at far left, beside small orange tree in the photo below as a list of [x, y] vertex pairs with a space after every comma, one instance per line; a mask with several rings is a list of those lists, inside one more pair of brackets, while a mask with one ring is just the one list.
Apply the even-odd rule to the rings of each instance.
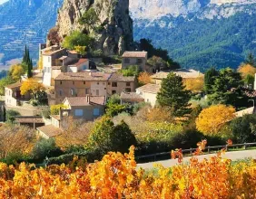
[[22, 101], [31, 99], [31, 95], [29, 93], [25, 95], [21, 94], [21, 90], [20, 90], [21, 86], [22, 86], [21, 81], [5, 86], [5, 106], [7, 107], [21, 106]]

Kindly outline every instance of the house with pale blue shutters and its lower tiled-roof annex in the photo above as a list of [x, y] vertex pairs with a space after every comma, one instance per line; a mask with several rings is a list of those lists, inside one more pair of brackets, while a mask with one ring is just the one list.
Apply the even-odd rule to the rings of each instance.
[[65, 109], [59, 115], [51, 116], [51, 124], [37, 128], [38, 134], [44, 138], [57, 137], [62, 134], [67, 118], [93, 121], [103, 115], [106, 98], [103, 96], [86, 96], [65, 98]]

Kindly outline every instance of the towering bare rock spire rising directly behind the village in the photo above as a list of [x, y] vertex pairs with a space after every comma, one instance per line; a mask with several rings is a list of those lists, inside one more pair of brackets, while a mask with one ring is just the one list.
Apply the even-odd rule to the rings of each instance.
[[[94, 8], [101, 26], [100, 31], [87, 24], [79, 24], [84, 12]], [[56, 28], [61, 40], [74, 31], [94, 37], [94, 48], [105, 55], [123, 53], [133, 43], [133, 20], [129, 15], [129, 0], [64, 0], [59, 11]]]

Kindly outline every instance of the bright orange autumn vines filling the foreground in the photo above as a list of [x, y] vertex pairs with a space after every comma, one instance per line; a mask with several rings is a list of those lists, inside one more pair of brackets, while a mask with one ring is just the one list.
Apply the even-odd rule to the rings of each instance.
[[136, 167], [134, 147], [129, 154], [113, 153], [86, 164], [74, 158], [67, 166], [0, 164], [0, 198], [255, 198], [256, 162], [231, 163], [224, 149], [199, 162], [206, 141], [198, 143], [189, 164], [181, 150], [172, 151], [177, 166]]

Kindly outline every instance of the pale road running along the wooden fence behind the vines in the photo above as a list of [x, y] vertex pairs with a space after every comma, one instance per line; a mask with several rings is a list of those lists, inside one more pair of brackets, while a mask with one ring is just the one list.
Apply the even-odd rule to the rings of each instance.
[[[198, 159], [202, 160], [204, 158], [209, 158], [211, 156], [216, 156], [216, 154], [198, 156]], [[231, 160], [238, 160], [238, 159], [243, 159], [246, 157], [251, 157], [253, 159], [256, 159], [256, 150], [226, 152], [222, 156], [223, 156], [223, 158], [227, 158], [227, 159], [231, 159]], [[191, 156], [184, 157], [183, 162], [188, 162], [190, 158], [191, 158]], [[164, 167], [170, 167], [170, 166], [178, 165], [178, 160], [177, 159], [169, 159], [169, 160], [162, 160], [162, 161], [158, 161], [158, 162], [143, 163], [143, 164], [138, 164], [137, 167], [142, 167], [144, 169], [150, 169], [150, 168], [153, 168], [154, 164], [161, 164]]]

